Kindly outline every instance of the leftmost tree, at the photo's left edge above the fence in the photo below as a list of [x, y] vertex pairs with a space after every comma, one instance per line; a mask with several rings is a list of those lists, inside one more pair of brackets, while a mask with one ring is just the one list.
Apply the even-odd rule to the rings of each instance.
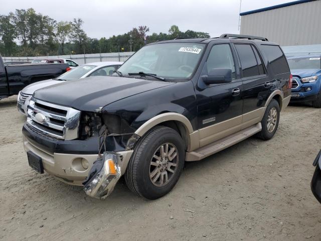
[[0, 37], [4, 43], [5, 51], [8, 54], [13, 54], [14, 47], [16, 46], [16, 28], [11, 22], [12, 16], [0, 16]]

